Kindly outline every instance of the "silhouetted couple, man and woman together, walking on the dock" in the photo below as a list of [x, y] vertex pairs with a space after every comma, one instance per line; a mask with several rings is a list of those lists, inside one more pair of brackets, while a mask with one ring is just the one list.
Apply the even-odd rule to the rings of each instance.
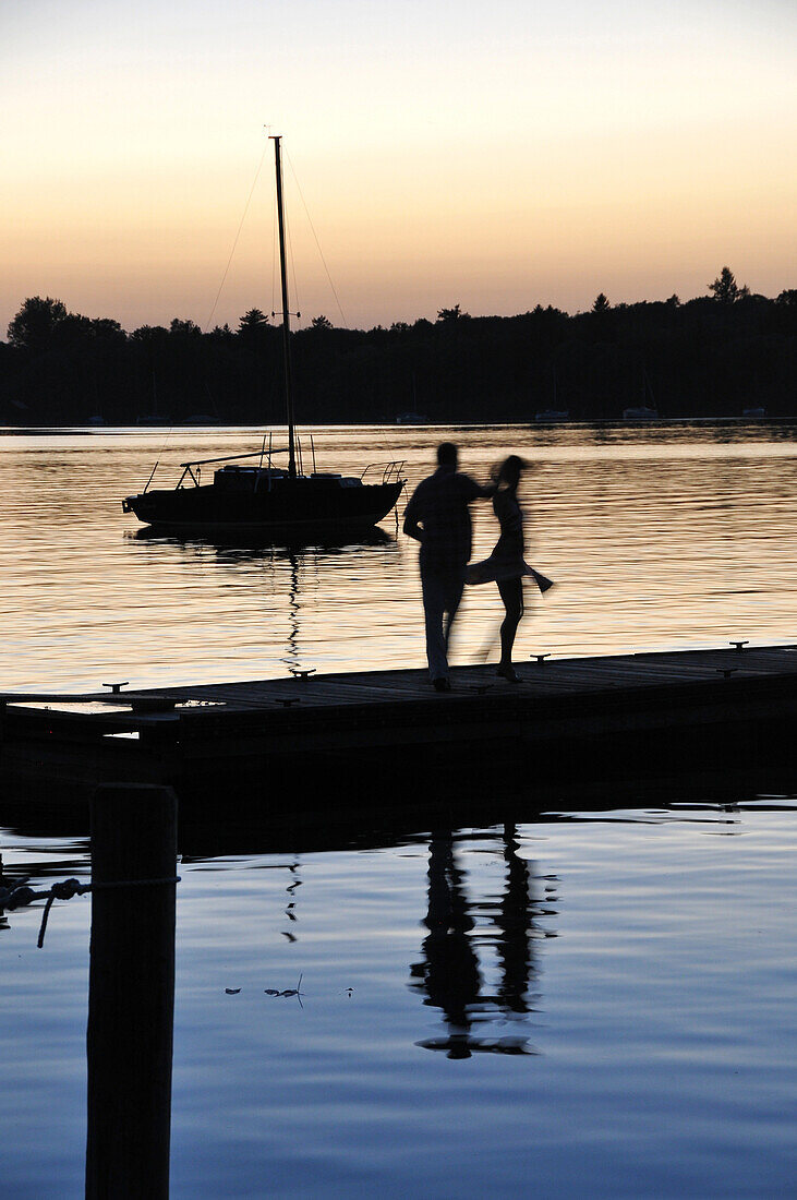
[[[448, 640], [465, 583], [495, 582], [503, 601], [501, 661], [496, 674], [520, 683], [512, 665], [514, 638], [523, 617], [523, 580], [531, 576], [541, 592], [551, 584], [524, 559], [523, 512], [518, 485], [524, 461], [518, 455], [494, 469], [493, 484], [481, 487], [457, 470], [457, 446], [437, 446], [437, 469], [416, 487], [404, 515], [404, 532], [421, 542], [421, 586], [425, 614], [427, 658], [436, 691], [451, 691]], [[469, 504], [491, 498], [501, 534], [489, 558], [467, 565], [471, 557]]]

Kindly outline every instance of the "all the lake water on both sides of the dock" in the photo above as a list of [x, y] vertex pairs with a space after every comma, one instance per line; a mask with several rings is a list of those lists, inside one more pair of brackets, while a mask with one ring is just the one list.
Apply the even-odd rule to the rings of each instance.
[[[515, 450], [535, 463], [529, 558], [557, 588], [532, 604], [520, 658], [795, 641], [797, 450], [781, 433], [315, 440], [319, 466], [400, 457], [412, 482], [441, 436], [478, 476]], [[164, 442], [164, 478], [256, 444], [0, 438], [5, 689], [423, 664], [416, 554], [390, 521], [373, 545], [301, 553], [137, 536], [119, 500]], [[483, 505], [479, 557], [494, 536]], [[490, 592], [466, 598], [458, 661], [491, 644]], [[354, 834], [312, 841], [186, 828], [173, 1196], [791, 1194], [797, 780], [744, 766], [664, 792], [606, 786], [603, 811], [578, 793], [541, 811], [532, 780], [513, 824], [484, 797], [478, 826], [403, 826], [375, 796]], [[0, 852], [34, 886], [90, 871], [79, 821], [12, 824], [2, 803]], [[42, 949], [40, 922], [41, 905], [0, 917], [0, 1177], [25, 1200], [81, 1195], [85, 1150], [90, 900], [55, 905]], [[300, 978], [300, 995], [266, 992]]]

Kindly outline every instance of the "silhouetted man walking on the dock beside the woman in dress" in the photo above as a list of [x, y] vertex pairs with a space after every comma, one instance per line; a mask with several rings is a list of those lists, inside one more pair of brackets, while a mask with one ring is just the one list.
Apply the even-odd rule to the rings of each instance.
[[465, 587], [471, 557], [471, 515], [467, 505], [493, 496], [457, 470], [457, 446], [437, 446], [437, 469], [422, 480], [404, 514], [404, 533], [421, 542], [421, 587], [427, 626], [427, 659], [436, 691], [451, 691], [448, 638]]

